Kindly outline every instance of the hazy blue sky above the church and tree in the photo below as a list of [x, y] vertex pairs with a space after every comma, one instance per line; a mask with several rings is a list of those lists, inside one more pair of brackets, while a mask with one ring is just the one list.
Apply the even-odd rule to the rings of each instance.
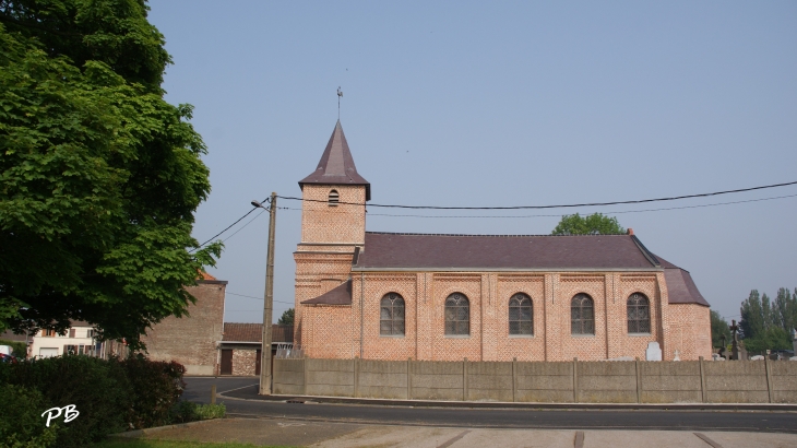
[[[372, 203], [572, 204], [797, 180], [794, 1], [150, 7], [174, 59], [166, 99], [195, 107], [191, 122], [209, 148], [200, 241], [251, 200], [300, 196], [338, 118], [338, 86]], [[301, 204], [277, 205], [288, 209], [276, 217], [274, 321], [294, 304]], [[665, 208], [679, 209], [654, 211]], [[539, 235], [575, 212], [632, 227], [690, 271], [728, 321], [753, 288], [797, 287], [797, 186], [513, 213], [371, 207], [367, 229]], [[225, 250], [209, 272], [229, 282], [227, 322], [262, 322], [267, 227], [267, 213], [255, 212], [219, 237]]]

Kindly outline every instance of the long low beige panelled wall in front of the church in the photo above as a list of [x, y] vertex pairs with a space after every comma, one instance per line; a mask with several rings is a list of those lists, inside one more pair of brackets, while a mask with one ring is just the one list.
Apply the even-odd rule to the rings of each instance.
[[274, 359], [274, 393], [554, 403], [797, 403], [797, 362]]

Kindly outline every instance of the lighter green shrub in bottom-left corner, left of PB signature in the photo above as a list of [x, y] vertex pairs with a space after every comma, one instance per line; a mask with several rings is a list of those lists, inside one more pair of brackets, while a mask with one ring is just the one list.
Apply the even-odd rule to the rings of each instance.
[[0, 385], [0, 446], [48, 448], [56, 444], [57, 424], [41, 422], [41, 412], [51, 406], [35, 389]]

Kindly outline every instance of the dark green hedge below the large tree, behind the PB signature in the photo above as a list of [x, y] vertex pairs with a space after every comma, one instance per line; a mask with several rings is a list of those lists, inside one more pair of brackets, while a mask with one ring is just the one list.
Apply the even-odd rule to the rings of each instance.
[[[185, 372], [178, 363], [153, 362], [143, 356], [105, 361], [68, 355], [0, 363], [0, 384], [38, 393], [40, 402], [25, 400], [37, 403], [32, 409], [37, 412], [34, 414], [39, 427], [45, 424], [44, 411], [74, 404], [80, 415], [69, 423], [59, 418], [61, 427], [52, 434], [58, 447], [83, 447], [108, 434], [168, 424], [170, 410], [186, 387]], [[183, 410], [182, 414], [186, 416], [179, 418], [198, 420], [193, 410]], [[7, 431], [17, 432], [14, 427]], [[16, 437], [28, 443], [34, 436], [22, 432]]]

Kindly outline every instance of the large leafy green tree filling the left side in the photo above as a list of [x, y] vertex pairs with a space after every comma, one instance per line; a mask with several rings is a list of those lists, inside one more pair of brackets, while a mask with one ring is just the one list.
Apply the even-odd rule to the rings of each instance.
[[206, 149], [164, 101], [147, 10], [0, 0], [0, 329], [86, 320], [135, 347], [219, 256], [191, 237]]

